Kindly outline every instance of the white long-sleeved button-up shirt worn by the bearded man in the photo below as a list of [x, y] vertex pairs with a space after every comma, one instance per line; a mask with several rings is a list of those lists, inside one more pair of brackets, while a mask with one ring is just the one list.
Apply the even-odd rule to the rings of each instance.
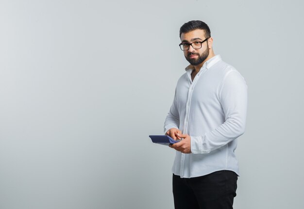
[[173, 104], [165, 120], [165, 133], [180, 129], [191, 137], [191, 152], [176, 151], [172, 172], [200, 177], [215, 171], [238, 174], [234, 150], [244, 133], [247, 85], [236, 69], [216, 55], [191, 80], [192, 65], [178, 80]]

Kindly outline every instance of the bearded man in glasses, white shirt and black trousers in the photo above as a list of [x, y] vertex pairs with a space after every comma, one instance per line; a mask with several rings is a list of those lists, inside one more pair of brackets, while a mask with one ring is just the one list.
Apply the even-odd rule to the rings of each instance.
[[190, 63], [178, 80], [165, 133], [180, 142], [172, 167], [175, 209], [232, 209], [238, 164], [234, 150], [244, 133], [247, 85], [215, 55], [210, 29], [189, 21], [180, 48]]

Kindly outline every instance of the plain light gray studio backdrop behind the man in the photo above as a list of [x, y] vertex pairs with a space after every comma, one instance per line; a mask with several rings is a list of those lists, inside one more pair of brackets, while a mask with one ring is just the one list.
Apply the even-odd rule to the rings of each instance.
[[304, 208], [303, 1], [1, 0], [0, 209], [173, 209], [162, 134], [205, 21], [248, 83], [235, 209]]

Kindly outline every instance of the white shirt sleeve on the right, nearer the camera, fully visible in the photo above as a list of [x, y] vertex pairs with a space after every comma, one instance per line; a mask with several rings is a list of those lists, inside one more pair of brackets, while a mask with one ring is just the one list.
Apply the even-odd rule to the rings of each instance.
[[247, 112], [247, 85], [243, 77], [230, 70], [218, 92], [225, 122], [201, 136], [191, 136], [191, 152], [210, 153], [244, 133]]

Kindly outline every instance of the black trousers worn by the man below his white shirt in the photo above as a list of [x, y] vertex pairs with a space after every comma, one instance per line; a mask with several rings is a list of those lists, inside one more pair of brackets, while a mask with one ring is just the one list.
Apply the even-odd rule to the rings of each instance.
[[193, 178], [173, 174], [172, 181], [175, 209], [233, 209], [237, 181], [233, 171]]

